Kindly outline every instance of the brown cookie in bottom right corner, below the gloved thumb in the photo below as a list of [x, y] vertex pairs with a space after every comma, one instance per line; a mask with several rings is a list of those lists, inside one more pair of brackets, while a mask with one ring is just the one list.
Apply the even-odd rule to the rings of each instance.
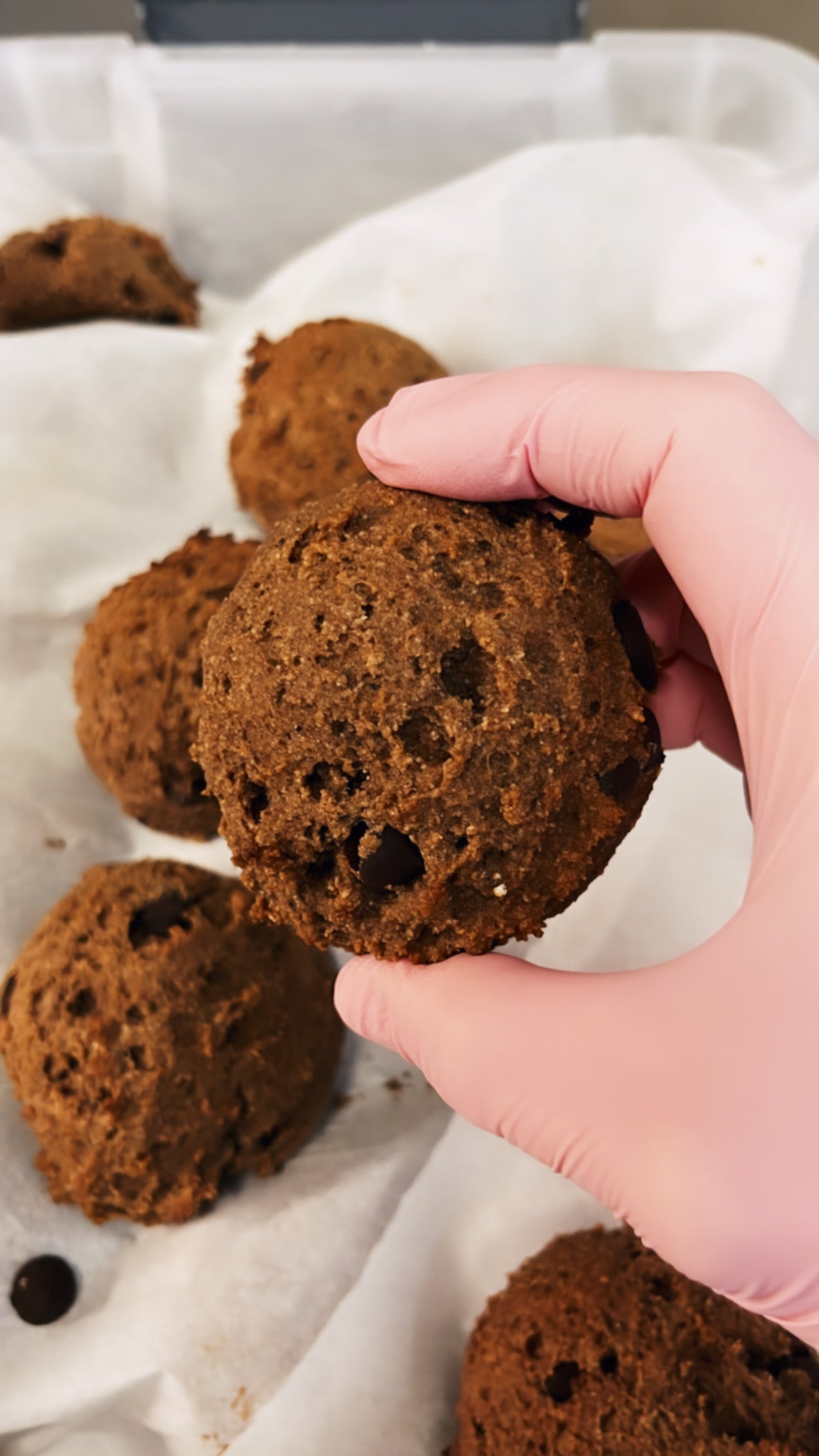
[[450, 1456], [816, 1456], [819, 1358], [627, 1229], [565, 1235], [478, 1319]]

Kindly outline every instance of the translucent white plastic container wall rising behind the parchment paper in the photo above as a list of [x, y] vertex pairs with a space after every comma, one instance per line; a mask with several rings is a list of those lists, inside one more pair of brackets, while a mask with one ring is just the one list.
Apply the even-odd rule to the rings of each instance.
[[819, 163], [819, 63], [718, 33], [557, 48], [0, 44], [0, 134], [86, 204], [159, 227], [229, 294], [516, 147], [630, 132], [734, 146], [800, 175]]

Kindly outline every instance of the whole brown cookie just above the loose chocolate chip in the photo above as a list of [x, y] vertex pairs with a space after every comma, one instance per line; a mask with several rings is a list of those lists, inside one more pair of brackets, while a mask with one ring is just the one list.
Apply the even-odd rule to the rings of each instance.
[[0, 1048], [57, 1203], [178, 1223], [310, 1134], [342, 1040], [329, 960], [249, 910], [189, 865], [96, 865], [20, 951]]

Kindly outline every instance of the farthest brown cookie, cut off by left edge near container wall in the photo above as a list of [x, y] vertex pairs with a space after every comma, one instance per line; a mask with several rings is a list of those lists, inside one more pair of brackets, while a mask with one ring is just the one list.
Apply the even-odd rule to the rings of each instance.
[[165, 243], [111, 217], [71, 217], [0, 248], [0, 329], [83, 319], [198, 322], [197, 285]]

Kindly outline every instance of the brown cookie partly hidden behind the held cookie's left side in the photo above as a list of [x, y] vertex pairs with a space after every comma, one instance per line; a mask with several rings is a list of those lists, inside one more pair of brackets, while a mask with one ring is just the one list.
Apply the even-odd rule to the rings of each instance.
[[115, 587], [89, 622], [74, 667], [83, 753], [125, 814], [152, 828], [208, 839], [219, 805], [191, 759], [201, 639], [256, 542], [200, 531]]

